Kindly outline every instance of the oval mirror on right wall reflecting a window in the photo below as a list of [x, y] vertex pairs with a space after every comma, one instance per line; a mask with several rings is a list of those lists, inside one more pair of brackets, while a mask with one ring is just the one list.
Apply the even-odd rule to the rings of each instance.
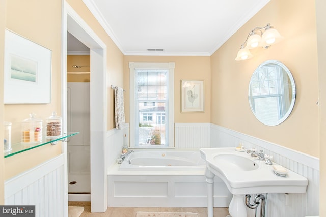
[[295, 101], [295, 84], [290, 70], [277, 60], [260, 64], [249, 83], [249, 104], [256, 118], [268, 126], [282, 123]]

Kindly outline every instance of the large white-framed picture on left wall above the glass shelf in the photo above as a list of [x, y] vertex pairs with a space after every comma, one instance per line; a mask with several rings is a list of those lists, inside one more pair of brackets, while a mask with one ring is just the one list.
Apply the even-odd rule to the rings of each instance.
[[4, 103], [51, 102], [51, 50], [5, 29]]

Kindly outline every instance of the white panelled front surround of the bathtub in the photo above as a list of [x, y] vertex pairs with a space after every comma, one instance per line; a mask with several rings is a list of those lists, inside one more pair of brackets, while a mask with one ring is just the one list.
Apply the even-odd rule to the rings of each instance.
[[[107, 178], [107, 206], [207, 207], [204, 171], [118, 171]], [[232, 195], [224, 182], [214, 179], [214, 207], [227, 207]]]

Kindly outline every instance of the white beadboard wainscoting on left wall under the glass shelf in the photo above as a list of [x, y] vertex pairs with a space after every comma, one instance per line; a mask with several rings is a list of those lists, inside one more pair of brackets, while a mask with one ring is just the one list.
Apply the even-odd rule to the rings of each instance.
[[5, 181], [5, 205], [35, 205], [36, 216], [68, 216], [64, 154]]

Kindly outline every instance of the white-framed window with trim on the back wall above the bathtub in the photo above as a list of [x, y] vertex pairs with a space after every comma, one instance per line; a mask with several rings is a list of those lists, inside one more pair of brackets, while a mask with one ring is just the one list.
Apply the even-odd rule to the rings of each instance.
[[174, 146], [174, 63], [129, 63], [130, 146]]

